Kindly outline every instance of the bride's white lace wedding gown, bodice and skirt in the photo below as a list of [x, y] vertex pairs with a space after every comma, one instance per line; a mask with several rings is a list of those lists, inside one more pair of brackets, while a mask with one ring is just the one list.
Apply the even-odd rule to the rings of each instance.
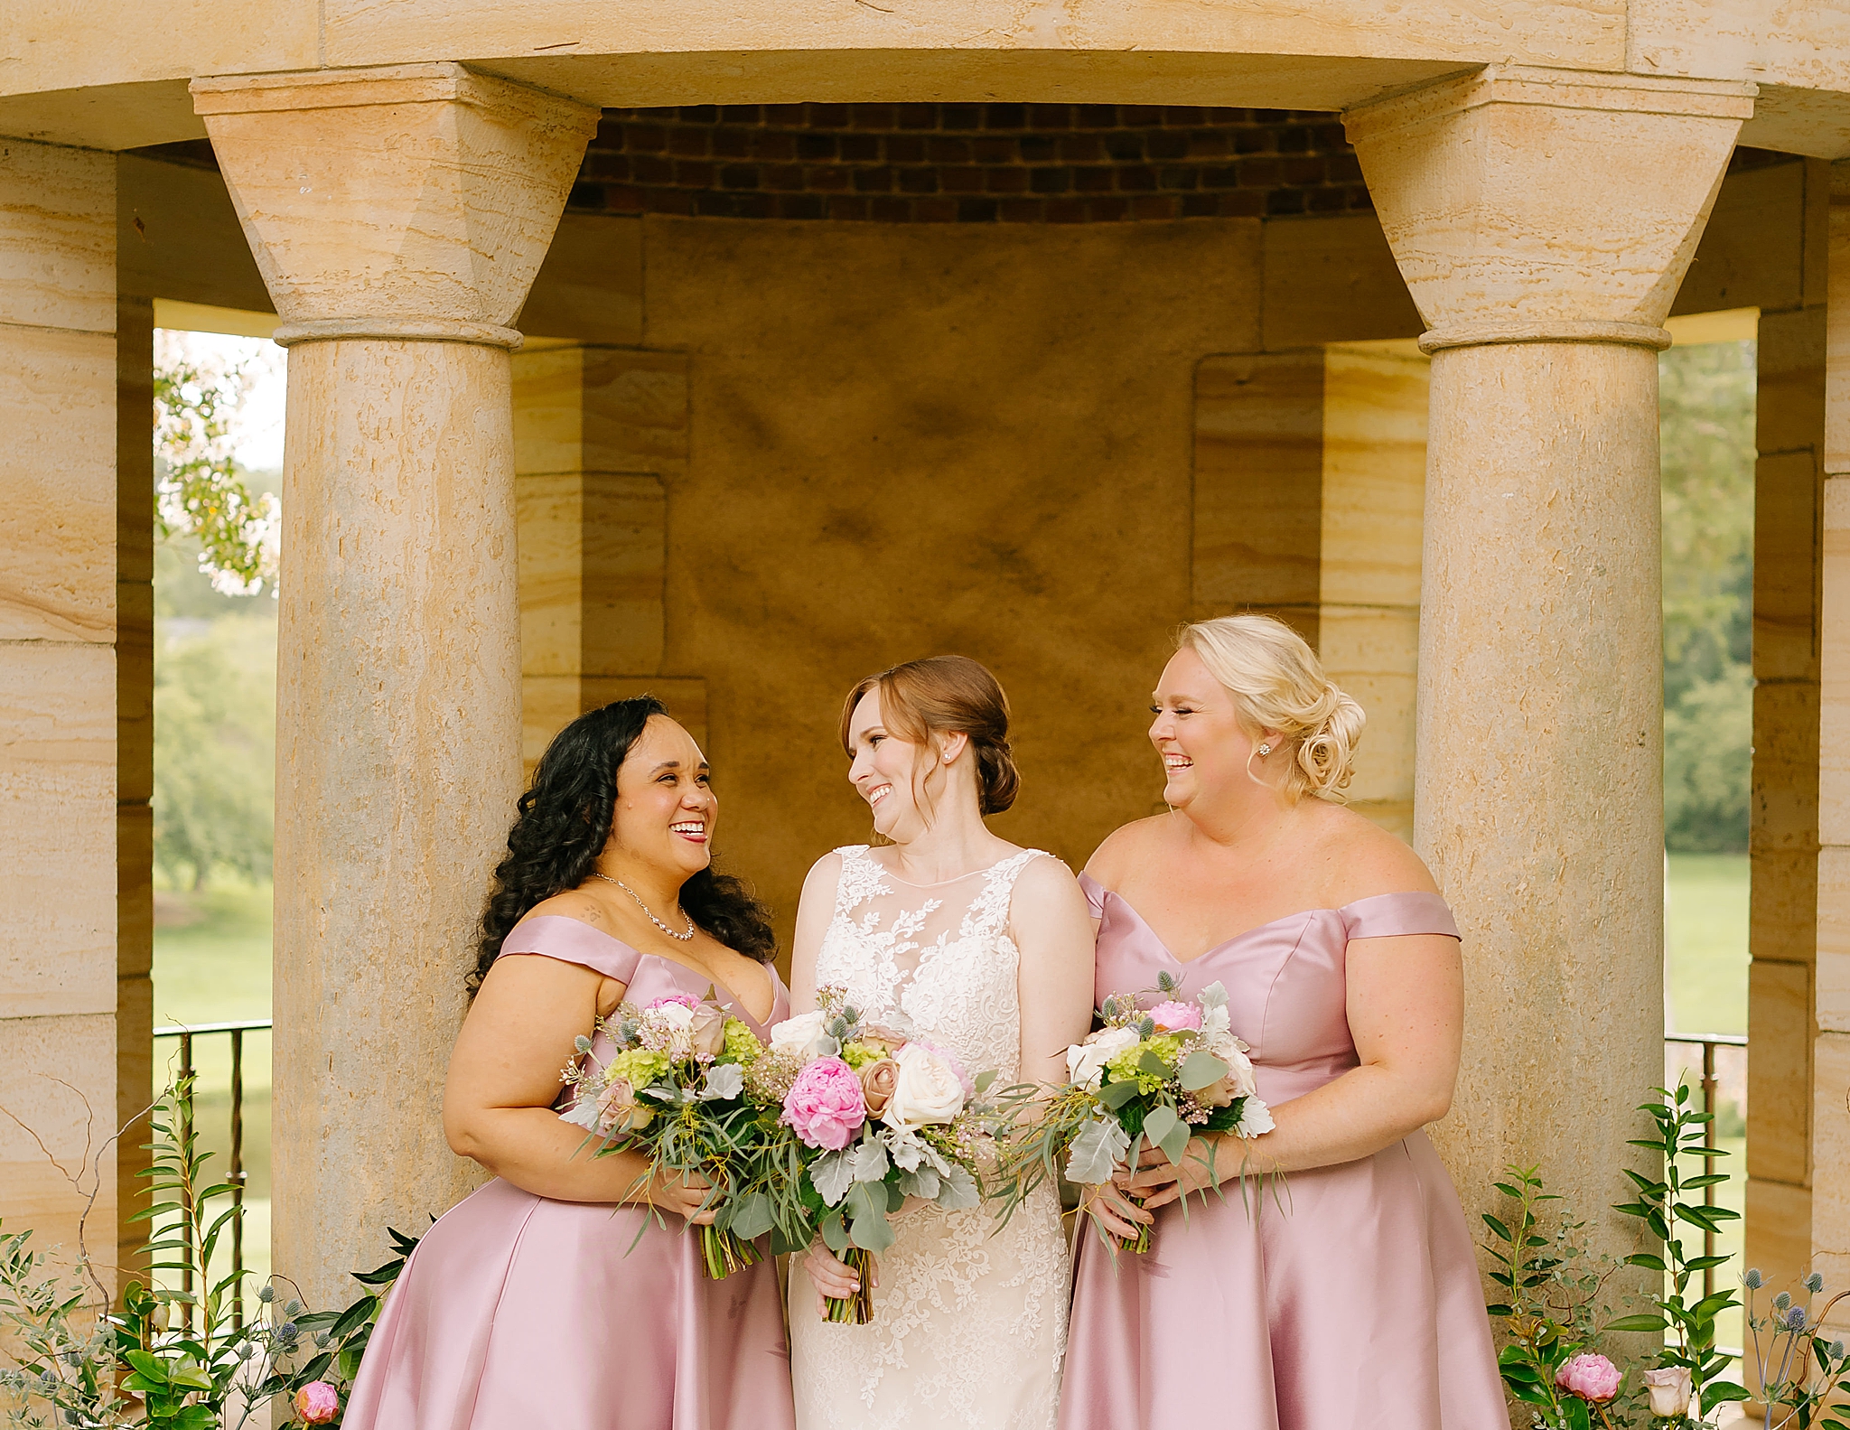
[[[942, 884], [905, 884], [840, 849], [834, 918], [816, 984], [866, 1017], [955, 1053], [997, 1088], [1019, 1080], [1016, 877], [1038, 849]], [[1054, 1424], [1066, 1352], [1067, 1254], [1051, 1186], [995, 1232], [986, 1206], [894, 1219], [873, 1321], [829, 1325], [807, 1275], [790, 1276], [797, 1430], [1042, 1430]]]

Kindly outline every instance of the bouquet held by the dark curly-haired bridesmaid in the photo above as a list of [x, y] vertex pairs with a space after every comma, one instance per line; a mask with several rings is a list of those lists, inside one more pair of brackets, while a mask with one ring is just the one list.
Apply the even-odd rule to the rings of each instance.
[[[692, 993], [664, 993], [640, 1008], [623, 1003], [598, 1021], [598, 1030], [616, 1054], [598, 1062], [592, 1040], [577, 1040], [583, 1058], [561, 1077], [575, 1097], [559, 1116], [601, 1140], [594, 1156], [620, 1151], [648, 1156], [648, 1171], [629, 1195], [657, 1177], [707, 1178], [714, 1190], [703, 1208], [718, 1202], [718, 1214], [710, 1227], [697, 1228], [703, 1269], [722, 1280], [753, 1265], [758, 1260], [753, 1238], [766, 1228], [753, 1228], [749, 1217], [740, 1221], [740, 1204], [727, 1197], [727, 1188], [762, 1136], [746, 1097], [746, 1067], [762, 1051], [758, 1040], [740, 1019]], [[653, 1206], [649, 1215], [666, 1225]]]

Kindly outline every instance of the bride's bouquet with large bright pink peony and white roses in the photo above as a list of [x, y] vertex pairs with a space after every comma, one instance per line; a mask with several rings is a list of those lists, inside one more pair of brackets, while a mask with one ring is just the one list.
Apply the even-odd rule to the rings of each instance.
[[762, 1219], [779, 1249], [799, 1251], [821, 1236], [860, 1275], [855, 1297], [827, 1302], [829, 1319], [866, 1325], [868, 1262], [894, 1243], [888, 1217], [906, 1197], [945, 1210], [982, 1201], [980, 1099], [995, 1073], [971, 1079], [949, 1051], [864, 1023], [840, 988], [821, 988], [818, 1003], [773, 1027], [746, 1071], [758, 1123], [770, 1123], [746, 1208], [749, 1225]]

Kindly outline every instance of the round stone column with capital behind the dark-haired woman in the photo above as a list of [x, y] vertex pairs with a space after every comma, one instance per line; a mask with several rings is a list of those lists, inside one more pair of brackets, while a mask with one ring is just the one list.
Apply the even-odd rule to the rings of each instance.
[[507, 324], [598, 111], [459, 65], [192, 92], [292, 346], [272, 1260], [333, 1306], [474, 1180], [438, 1110], [520, 781]]

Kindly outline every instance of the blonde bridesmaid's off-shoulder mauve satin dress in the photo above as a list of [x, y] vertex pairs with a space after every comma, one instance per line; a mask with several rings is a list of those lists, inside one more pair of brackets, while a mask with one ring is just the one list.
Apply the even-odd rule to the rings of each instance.
[[[1117, 894], [1101, 918], [1097, 999], [1212, 982], [1273, 1106], [1360, 1058], [1345, 1014], [1349, 940], [1447, 934], [1436, 894], [1384, 894], [1251, 929], [1184, 964]], [[1147, 1003], [1149, 999], [1145, 999]], [[1149, 1252], [1079, 1252], [1060, 1430], [1508, 1430], [1476, 1256], [1424, 1132], [1375, 1156], [1223, 1186], [1156, 1214]]]

